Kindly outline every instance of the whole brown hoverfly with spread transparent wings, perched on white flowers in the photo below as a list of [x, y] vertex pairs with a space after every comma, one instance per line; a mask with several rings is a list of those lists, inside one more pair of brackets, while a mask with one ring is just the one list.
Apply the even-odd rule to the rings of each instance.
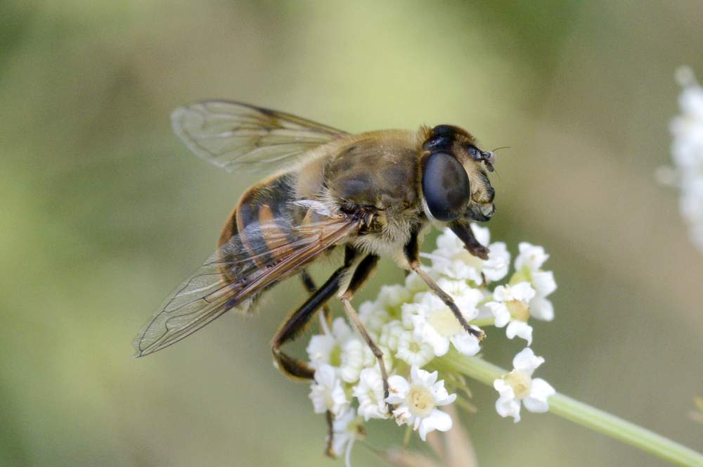
[[[243, 194], [221, 232], [219, 248], [136, 335], [137, 357], [178, 342], [230, 310], [251, 313], [262, 293], [299, 275], [310, 295], [271, 340], [278, 369], [291, 378], [313, 378], [314, 369], [281, 347], [336, 295], [378, 359], [387, 396], [382, 352], [352, 306], [354, 293], [380, 257], [415, 271], [467, 333], [483, 337], [423, 271], [418, 252], [420, 239], [434, 224], [449, 226], [472, 255], [488, 257], [469, 223], [488, 221], [495, 212], [495, 191], [486, 174], [495, 158], [470, 133], [442, 124], [416, 132], [348, 134], [226, 101], [179, 108], [172, 123], [186, 146], [214, 165], [273, 175]], [[342, 266], [316, 288], [306, 268], [337, 248], [344, 249]]]

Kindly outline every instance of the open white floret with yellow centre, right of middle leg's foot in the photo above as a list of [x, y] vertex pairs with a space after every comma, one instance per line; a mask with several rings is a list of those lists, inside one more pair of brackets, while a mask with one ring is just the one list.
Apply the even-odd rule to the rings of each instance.
[[393, 411], [396, 422], [413, 426], [425, 441], [430, 431], [451, 428], [451, 416], [437, 407], [454, 402], [456, 394], [450, 395], [444, 388], [444, 381], [437, 381], [437, 371], [429, 373], [413, 366], [410, 375], [410, 382], [398, 375], [388, 378], [390, 394], [386, 400], [397, 404]]

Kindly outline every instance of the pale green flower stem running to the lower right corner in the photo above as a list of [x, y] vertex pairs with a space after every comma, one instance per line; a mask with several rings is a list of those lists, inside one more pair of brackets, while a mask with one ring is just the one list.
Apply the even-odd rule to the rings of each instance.
[[[441, 360], [441, 363], [437, 360]], [[484, 359], [466, 357], [456, 350], [452, 350], [441, 359], [435, 359], [432, 363], [439, 363], [438, 366], [441, 369], [458, 371], [489, 386], [493, 386], [494, 380], [508, 373], [505, 369]], [[549, 411], [671, 463], [681, 466], [703, 466], [703, 454], [571, 397], [559, 393], [553, 395], [549, 398]]]

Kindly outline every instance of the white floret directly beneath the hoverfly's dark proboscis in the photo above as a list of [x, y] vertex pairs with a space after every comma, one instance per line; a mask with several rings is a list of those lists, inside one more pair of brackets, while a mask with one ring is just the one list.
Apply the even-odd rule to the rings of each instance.
[[490, 233], [486, 227], [471, 224], [471, 229], [477, 241], [488, 245], [489, 259], [482, 260], [466, 250], [460, 239], [449, 229], [437, 237], [437, 250], [431, 255], [424, 255], [432, 260], [432, 269], [450, 279], [465, 279], [478, 286], [488, 281], [500, 281], [508, 274], [510, 267], [510, 253], [505, 248], [505, 243], [491, 243]]

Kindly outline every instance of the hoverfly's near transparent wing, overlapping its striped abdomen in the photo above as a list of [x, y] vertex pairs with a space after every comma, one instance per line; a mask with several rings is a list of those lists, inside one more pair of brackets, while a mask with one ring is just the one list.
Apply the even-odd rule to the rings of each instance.
[[218, 248], [141, 328], [133, 342], [136, 357], [178, 342], [230, 309], [245, 312], [254, 295], [295, 274], [361, 226], [349, 215], [314, 212], [306, 219], [297, 226], [285, 219], [250, 224]]

